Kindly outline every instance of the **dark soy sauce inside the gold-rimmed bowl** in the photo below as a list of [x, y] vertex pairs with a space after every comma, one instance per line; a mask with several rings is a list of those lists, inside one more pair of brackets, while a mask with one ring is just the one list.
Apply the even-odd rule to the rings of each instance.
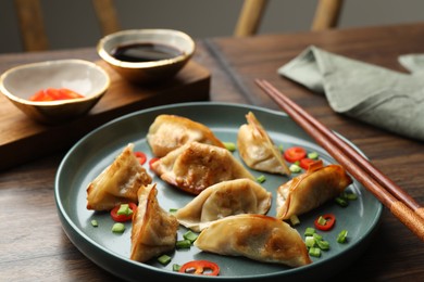
[[160, 43], [134, 43], [119, 46], [112, 50], [112, 56], [126, 62], [152, 62], [172, 59], [184, 54], [176, 48]]

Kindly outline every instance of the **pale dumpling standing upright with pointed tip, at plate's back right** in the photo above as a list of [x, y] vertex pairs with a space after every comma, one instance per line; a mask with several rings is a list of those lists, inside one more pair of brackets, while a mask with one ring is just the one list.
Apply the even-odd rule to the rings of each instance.
[[270, 136], [252, 112], [246, 115], [248, 124], [241, 125], [237, 148], [245, 164], [255, 170], [289, 176], [290, 169]]

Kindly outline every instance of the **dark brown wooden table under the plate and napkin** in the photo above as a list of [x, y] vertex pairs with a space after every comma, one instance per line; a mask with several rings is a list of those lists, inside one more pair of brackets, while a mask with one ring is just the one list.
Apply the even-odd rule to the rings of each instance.
[[[337, 115], [324, 97], [276, 74], [280, 65], [310, 44], [404, 72], [397, 57], [424, 53], [424, 24], [198, 40], [194, 60], [212, 73], [212, 101], [277, 108], [253, 84], [254, 78], [265, 78], [327, 127], [351, 140], [383, 172], [424, 203], [423, 142]], [[93, 48], [5, 54], [0, 56], [0, 67], [70, 56], [98, 60]], [[65, 152], [66, 149], [0, 171], [1, 281], [117, 281], [82, 255], [62, 231], [53, 181]], [[332, 281], [424, 281], [423, 266], [423, 242], [385, 209], [370, 247], [348, 269], [334, 273]]]

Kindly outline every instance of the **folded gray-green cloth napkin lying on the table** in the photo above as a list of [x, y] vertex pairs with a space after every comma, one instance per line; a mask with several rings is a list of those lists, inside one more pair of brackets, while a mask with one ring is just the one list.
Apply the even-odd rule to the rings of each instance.
[[399, 57], [410, 74], [371, 65], [314, 46], [278, 74], [324, 93], [341, 114], [424, 141], [424, 54]]

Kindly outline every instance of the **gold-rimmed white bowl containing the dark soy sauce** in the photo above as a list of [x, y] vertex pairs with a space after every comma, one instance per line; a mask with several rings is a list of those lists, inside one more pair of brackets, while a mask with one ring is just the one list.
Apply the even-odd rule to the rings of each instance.
[[[161, 44], [174, 48], [179, 54], [173, 57], [129, 62], [114, 56], [116, 48], [134, 44]], [[173, 29], [129, 29], [100, 39], [97, 52], [121, 76], [135, 84], [152, 84], [173, 77], [190, 60], [195, 41], [185, 33]]]

